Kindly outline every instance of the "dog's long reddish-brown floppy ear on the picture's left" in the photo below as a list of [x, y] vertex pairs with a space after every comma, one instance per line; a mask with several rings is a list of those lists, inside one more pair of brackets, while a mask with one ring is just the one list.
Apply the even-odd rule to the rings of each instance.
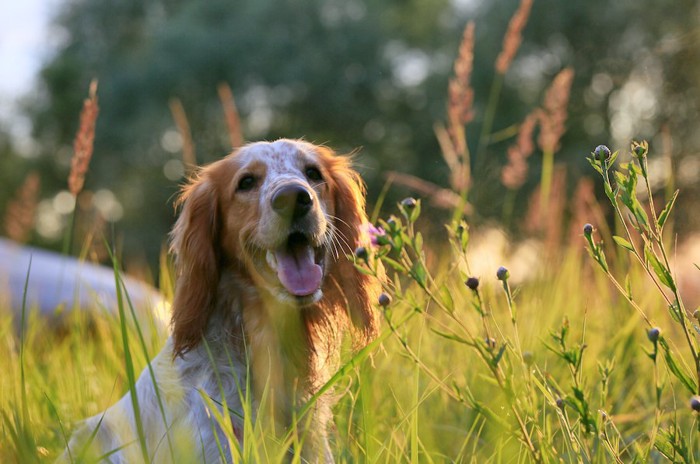
[[171, 233], [177, 274], [172, 327], [174, 353], [181, 355], [201, 341], [219, 282], [217, 195], [206, 172], [183, 188], [177, 204], [183, 207]]

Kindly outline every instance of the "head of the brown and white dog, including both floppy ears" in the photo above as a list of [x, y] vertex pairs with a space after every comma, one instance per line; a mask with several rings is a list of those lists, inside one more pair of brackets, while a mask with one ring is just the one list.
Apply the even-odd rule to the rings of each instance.
[[367, 241], [364, 190], [347, 157], [298, 140], [253, 143], [203, 168], [179, 203], [176, 353], [200, 342], [225, 269], [282, 306], [344, 305], [374, 332], [378, 283], [346, 258]]

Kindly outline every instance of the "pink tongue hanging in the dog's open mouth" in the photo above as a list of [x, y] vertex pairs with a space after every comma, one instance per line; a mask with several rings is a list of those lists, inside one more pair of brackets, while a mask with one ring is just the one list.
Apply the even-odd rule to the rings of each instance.
[[275, 252], [277, 277], [289, 293], [311, 295], [321, 286], [323, 271], [314, 262], [314, 250], [309, 245], [294, 245]]

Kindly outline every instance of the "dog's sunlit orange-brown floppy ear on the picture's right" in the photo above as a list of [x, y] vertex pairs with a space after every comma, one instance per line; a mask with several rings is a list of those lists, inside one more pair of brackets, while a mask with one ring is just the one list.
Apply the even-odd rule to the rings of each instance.
[[[322, 148], [321, 153], [331, 176], [329, 184], [335, 202], [337, 234], [343, 252], [352, 254], [359, 246], [370, 246], [364, 184], [359, 174], [351, 168], [350, 158], [336, 156], [326, 148]], [[330, 290], [338, 293], [336, 298], [339, 297], [339, 304], [347, 304], [353, 325], [367, 342], [378, 331], [379, 317], [375, 305], [381, 292], [381, 282], [358, 272], [345, 253], [341, 253], [333, 265], [330, 280], [335, 281], [332, 283], [335, 288]], [[380, 271], [383, 274], [383, 269]]]

